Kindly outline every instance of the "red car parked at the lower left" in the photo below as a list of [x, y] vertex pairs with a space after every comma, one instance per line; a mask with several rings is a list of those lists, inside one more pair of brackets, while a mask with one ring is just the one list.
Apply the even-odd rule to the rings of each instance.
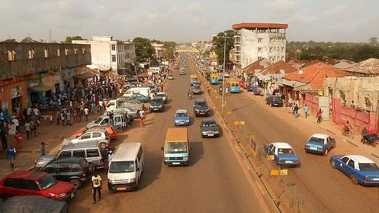
[[0, 197], [38, 195], [55, 200], [68, 200], [75, 196], [72, 183], [58, 181], [47, 172], [18, 171], [0, 181]]

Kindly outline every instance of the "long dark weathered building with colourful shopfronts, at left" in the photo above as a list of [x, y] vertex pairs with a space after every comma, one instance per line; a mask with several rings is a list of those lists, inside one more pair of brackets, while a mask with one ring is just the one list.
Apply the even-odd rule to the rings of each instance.
[[53, 93], [71, 90], [94, 76], [91, 46], [50, 43], [0, 43], [0, 102], [8, 116], [35, 103], [45, 104]]

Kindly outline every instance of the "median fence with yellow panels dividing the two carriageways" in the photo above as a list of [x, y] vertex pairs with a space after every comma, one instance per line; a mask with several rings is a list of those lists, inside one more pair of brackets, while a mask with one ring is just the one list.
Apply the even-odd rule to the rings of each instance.
[[[195, 70], [196, 67], [191, 64]], [[254, 132], [246, 128], [243, 117], [238, 117], [227, 103], [221, 104], [219, 88], [211, 87], [198, 72], [200, 83], [230, 128], [238, 146], [242, 148], [246, 157], [250, 161], [262, 180], [266, 189], [269, 191], [274, 202], [281, 211], [285, 212], [315, 212], [304, 196], [297, 190], [295, 183], [291, 182], [285, 175], [287, 169], [278, 168], [269, 156], [265, 153], [265, 145], [255, 139]], [[209, 87], [208, 87], [209, 86]], [[209, 91], [208, 91], [209, 88]], [[225, 94], [226, 95], [226, 94]]]

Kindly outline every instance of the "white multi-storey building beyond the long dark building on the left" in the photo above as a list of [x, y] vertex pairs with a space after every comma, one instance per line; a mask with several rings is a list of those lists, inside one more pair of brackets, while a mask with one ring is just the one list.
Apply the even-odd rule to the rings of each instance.
[[74, 44], [90, 44], [92, 65], [99, 70], [117, 71], [135, 58], [135, 45], [130, 42], [114, 41], [112, 36], [92, 36], [92, 40], [75, 40]]

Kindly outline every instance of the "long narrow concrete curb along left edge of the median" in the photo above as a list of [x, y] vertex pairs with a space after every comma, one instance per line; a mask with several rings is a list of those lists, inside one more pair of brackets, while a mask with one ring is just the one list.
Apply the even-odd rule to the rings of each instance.
[[[194, 66], [192, 60], [191, 60], [191, 68], [194, 70], [194, 72], [196, 73], [196, 75], [199, 76], [199, 73], [197, 72], [196, 67]], [[204, 89], [204, 85], [203, 84], [201, 85], [201, 87], [202, 87], [203, 91], [206, 91]], [[210, 99], [209, 94], [207, 92], [204, 92], [204, 96], [208, 100], [208, 103], [210, 103], [212, 105], [212, 108], [214, 109], [213, 112], [217, 113], [217, 116], [220, 117], [220, 119], [222, 121], [222, 124], [224, 125], [225, 129], [227, 130], [227, 132], [230, 135], [230, 138], [234, 142], [234, 145], [235, 145], [235, 147], [236, 147], [236, 149], [238, 151], [238, 154], [240, 155], [240, 157], [242, 158], [242, 160], [248, 166], [247, 170], [249, 171], [249, 174], [252, 177], [252, 179], [254, 180], [254, 182], [257, 184], [258, 189], [260, 190], [260, 193], [262, 194], [262, 196], [263, 196], [263, 198], [264, 198], [264, 200], [266, 202], [266, 205], [268, 206], [269, 210], [271, 212], [281, 212], [280, 209], [275, 204], [274, 198], [271, 196], [271, 194], [269, 193], [269, 191], [266, 188], [265, 184], [262, 182], [262, 180], [258, 176], [257, 170], [254, 168], [254, 166], [252, 165], [252, 163], [249, 160], [249, 158], [245, 155], [245, 152], [244, 152], [243, 148], [240, 146], [240, 144], [238, 143], [238, 141], [237, 141], [237, 139], [236, 139], [236, 137], [235, 137], [235, 135], [234, 135], [234, 133], [232, 131], [232, 128], [226, 122], [226, 120], [224, 119], [224, 116], [222, 116], [222, 114], [219, 111], [219, 109], [215, 106], [215, 103], [213, 102], [213, 100]]]

